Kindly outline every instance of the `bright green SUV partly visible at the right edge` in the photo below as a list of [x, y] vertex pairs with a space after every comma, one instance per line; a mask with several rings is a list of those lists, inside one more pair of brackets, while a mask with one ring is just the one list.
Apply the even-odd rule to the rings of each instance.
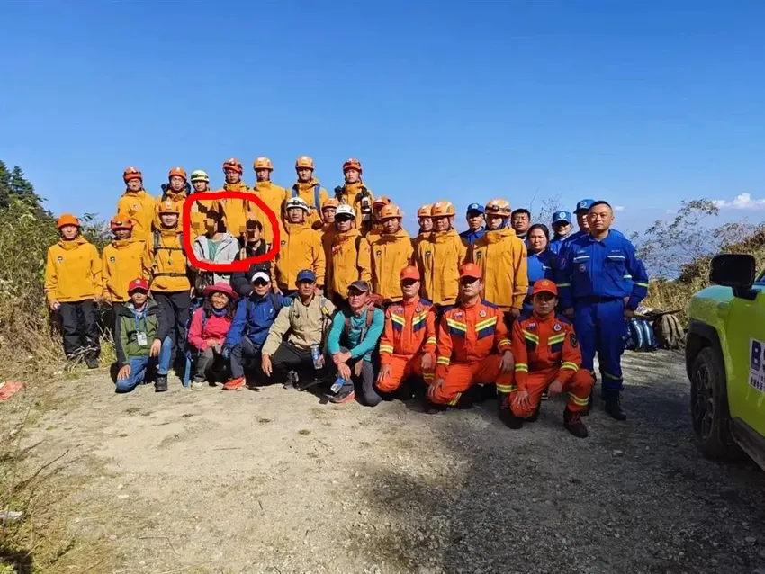
[[743, 451], [765, 469], [765, 274], [754, 257], [725, 254], [709, 278], [690, 300], [685, 353], [698, 449], [716, 459]]

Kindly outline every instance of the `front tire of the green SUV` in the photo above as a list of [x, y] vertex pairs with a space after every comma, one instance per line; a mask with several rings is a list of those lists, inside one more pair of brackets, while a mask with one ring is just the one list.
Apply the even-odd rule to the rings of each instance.
[[736, 460], [741, 450], [731, 436], [725, 365], [711, 347], [701, 349], [690, 372], [690, 413], [698, 450], [709, 459]]

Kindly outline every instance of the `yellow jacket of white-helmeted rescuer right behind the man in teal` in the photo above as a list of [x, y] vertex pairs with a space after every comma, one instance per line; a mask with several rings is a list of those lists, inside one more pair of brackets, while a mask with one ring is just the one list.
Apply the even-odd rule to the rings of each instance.
[[328, 292], [343, 299], [348, 296], [348, 285], [362, 279], [372, 281], [372, 261], [369, 241], [358, 229], [346, 233], [337, 231], [329, 247]]

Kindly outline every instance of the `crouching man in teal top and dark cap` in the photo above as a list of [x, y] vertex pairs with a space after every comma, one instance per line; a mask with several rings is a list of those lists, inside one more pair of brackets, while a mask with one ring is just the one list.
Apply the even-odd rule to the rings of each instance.
[[327, 352], [338, 369], [338, 379], [343, 380], [329, 400], [340, 404], [355, 399], [354, 383], [360, 382], [365, 404], [374, 407], [382, 398], [374, 390], [372, 354], [383, 335], [385, 315], [369, 302], [365, 281], [348, 285], [348, 306], [335, 315], [327, 337]]

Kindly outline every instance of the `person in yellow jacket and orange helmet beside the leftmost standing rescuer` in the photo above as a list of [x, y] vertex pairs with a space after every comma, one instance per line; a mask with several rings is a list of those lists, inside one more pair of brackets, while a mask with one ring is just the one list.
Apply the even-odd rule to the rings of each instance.
[[151, 261], [148, 259], [146, 241], [132, 237], [133, 221], [126, 215], [112, 217], [110, 228], [114, 234], [112, 243], [103, 247], [101, 256], [103, 300], [112, 304], [114, 318], [121, 306], [130, 300], [128, 284], [136, 277], [148, 279]]

